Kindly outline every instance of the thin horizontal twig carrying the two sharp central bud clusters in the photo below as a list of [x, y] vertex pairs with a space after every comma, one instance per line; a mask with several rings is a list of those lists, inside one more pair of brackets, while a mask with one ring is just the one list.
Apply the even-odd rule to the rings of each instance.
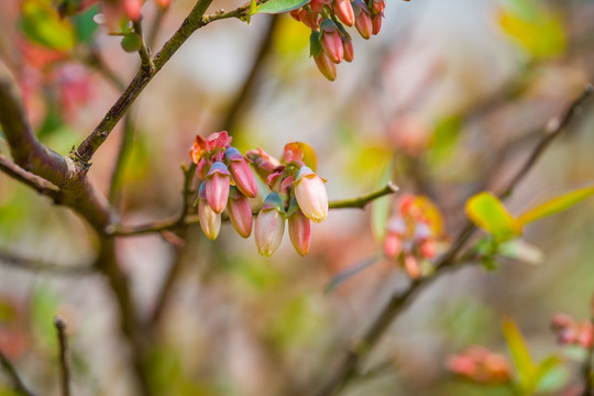
[[[371, 201], [383, 196], [394, 194], [396, 191], [398, 191], [398, 187], [396, 187], [392, 183], [388, 183], [385, 187], [378, 189], [377, 191], [373, 191], [361, 197], [330, 201], [328, 204], [328, 207], [329, 209], [362, 209]], [[180, 218], [180, 215], [138, 226], [113, 226], [108, 230], [108, 232], [114, 237], [134, 237], [161, 232], [164, 230], [172, 230], [178, 228], [179, 226], [191, 226], [200, 223], [200, 219], [196, 215], [188, 215], [184, 218]]]

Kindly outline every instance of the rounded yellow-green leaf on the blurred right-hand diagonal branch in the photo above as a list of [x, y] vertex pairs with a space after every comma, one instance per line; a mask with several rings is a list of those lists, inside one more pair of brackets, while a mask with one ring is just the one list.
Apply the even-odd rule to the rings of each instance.
[[498, 242], [521, 234], [521, 223], [491, 193], [480, 193], [470, 198], [466, 201], [466, 215]]

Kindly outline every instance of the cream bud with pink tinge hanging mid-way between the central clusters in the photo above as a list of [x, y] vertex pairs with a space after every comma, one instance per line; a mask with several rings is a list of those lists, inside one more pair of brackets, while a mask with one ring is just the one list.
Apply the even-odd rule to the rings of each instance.
[[257, 252], [270, 257], [280, 245], [285, 232], [283, 201], [278, 194], [271, 193], [264, 200], [254, 226]]

